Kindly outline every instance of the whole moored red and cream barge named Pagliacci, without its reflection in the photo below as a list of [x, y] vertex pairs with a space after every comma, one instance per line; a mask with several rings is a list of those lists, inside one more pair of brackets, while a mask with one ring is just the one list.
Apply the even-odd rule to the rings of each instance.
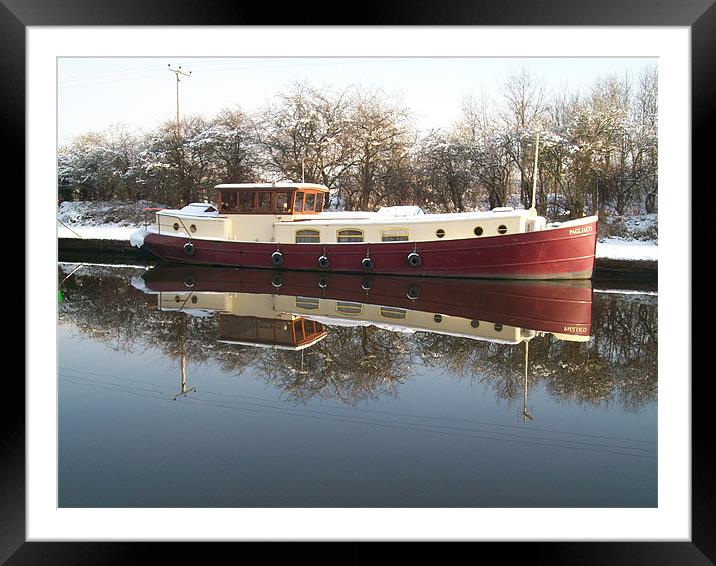
[[547, 223], [535, 209], [426, 214], [328, 211], [312, 183], [222, 184], [216, 206], [155, 211], [133, 245], [188, 264], [345, 273], [590, 279], [597, 217]]

